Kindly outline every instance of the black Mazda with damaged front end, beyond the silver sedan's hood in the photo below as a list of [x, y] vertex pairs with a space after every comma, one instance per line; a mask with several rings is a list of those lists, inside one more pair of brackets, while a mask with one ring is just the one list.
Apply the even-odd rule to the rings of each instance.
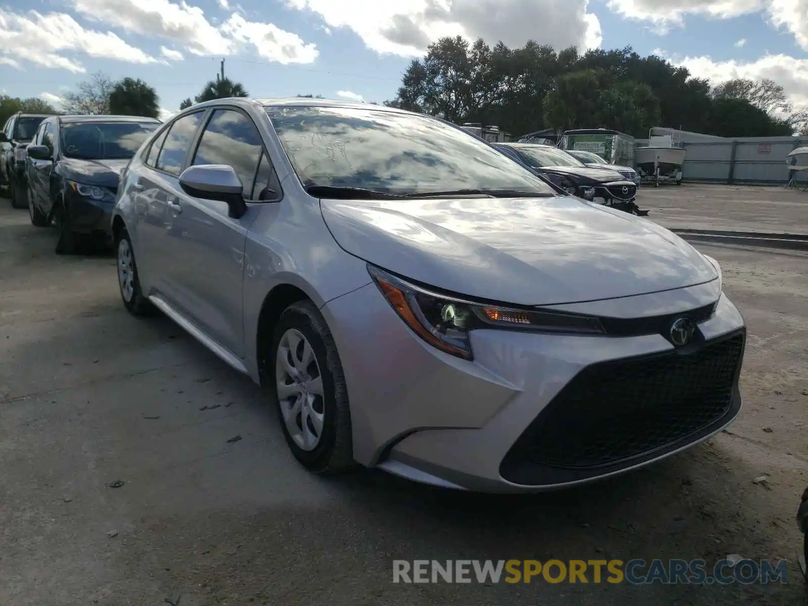
[[646, 216], [634, 203], [637, 184], [615, 170], [590, 168], [552, 145], [532, 143], [495, 143], [494, 147], [515, 162], [553, 183], [571, 196], [599, 204], [608, 204], [628, 213]]

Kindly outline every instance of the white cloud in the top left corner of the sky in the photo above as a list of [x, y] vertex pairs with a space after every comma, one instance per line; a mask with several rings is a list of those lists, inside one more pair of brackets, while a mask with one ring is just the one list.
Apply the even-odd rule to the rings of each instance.
[[78, 61], [60, 54], [70, 51], [129, 63], [157, 61], [112, 32], [85, 29], [64, 13], [29, 11], [21, 15], [0, 9], [0, 52], [44, 67], [86, 71]]

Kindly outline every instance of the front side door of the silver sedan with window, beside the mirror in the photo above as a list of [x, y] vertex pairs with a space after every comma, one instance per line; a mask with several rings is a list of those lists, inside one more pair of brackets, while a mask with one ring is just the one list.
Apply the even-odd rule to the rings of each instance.
[[[242, 181], [247, 202], [270, 200], [277, 196], [280, 186], [267, 187], [266, 177], [259, 176], [259, 187], [255, 187], [256, 174], [265, 174], [266, 166], [271, 168], [264, 159], [261, 170], [264, 153], [259, 130], [246, 112], [215, 107], [190, 164], [232, 166]], [[172, 290], [192, 322], [243, 357], [244, 246], [259, 204], [248, 204], [247, 212], [237, 219], [229, 217], [224, 202], [189, 196], [179, 187], [174, 193], [179, 208], [173, 212], [181, 229], [169, 237]]]

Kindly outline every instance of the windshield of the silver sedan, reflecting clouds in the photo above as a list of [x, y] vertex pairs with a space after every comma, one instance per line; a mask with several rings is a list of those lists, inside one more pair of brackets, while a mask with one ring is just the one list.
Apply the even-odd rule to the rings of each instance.
[[304, 187], [391, 194], [451, 190], [554, 191], [490, 145], [440, 120], [359, 107], [270, 107]]

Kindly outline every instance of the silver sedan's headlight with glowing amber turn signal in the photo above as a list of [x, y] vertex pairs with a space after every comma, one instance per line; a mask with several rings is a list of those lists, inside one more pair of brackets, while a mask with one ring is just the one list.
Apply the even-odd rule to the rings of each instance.
[[469, 331], [475, 329], [605, 334], [597, 318], [465, 301], [410, 284], [369, 264], [368, 271], [381, 294], [416, 335], [465, 360], [473, 360]]

